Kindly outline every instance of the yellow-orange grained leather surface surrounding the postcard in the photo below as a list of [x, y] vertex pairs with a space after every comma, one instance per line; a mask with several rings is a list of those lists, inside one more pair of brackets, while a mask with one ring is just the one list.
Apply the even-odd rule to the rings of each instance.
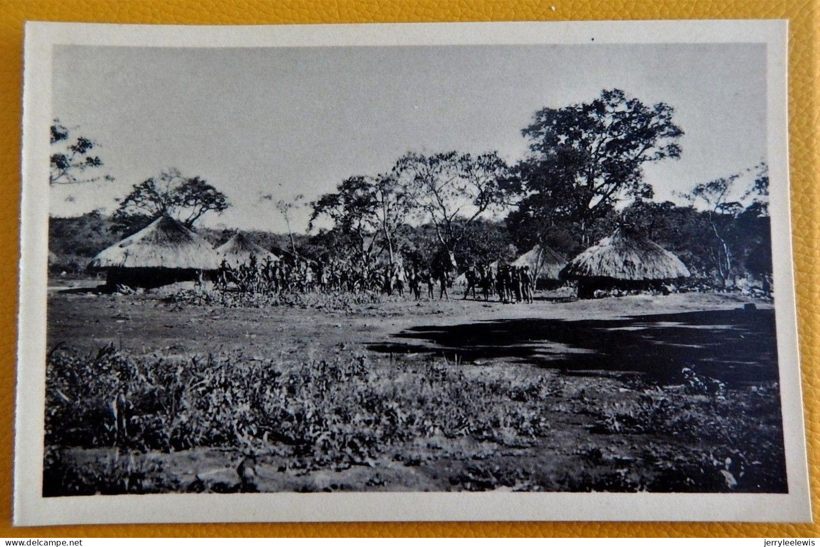
[[[555, 9], [551, 9], [555, 7]], [[818, 211], [820, 0], [0, 0], [0, 536], [815, 536], [817, 524], [406, 522], [191, 524], [11, 528], [22, 43], [26, 20], [252, 25], [488, 20], [785, 18], [803, 396], [815, 521], [820, 449], [820, 211]], [[731, 503], [731, 500], [727, 500]]]

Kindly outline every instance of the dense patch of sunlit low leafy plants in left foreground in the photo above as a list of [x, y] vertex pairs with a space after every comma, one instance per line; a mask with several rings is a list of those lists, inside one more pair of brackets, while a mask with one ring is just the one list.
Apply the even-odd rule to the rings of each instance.
[[[369, 464], [390, 445], [444, 435], [526, 445], [549, 435], [549, 383], [365, 355], [309, 362], [241, 353], [48, 356], [46, 444], [186, 450], [280, 444], [313, 466]], [[522, 393], [529, 398], [522, 400]]]

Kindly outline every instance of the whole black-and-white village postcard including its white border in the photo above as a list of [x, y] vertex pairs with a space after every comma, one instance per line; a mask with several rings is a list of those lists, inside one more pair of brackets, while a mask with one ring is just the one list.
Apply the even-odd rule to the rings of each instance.
[[30, 23], [15, 522], [809, 520], [786, 35]]

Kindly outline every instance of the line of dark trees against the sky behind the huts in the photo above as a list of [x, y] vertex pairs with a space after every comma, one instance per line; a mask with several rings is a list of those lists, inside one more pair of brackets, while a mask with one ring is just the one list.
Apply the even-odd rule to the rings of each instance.
[[[654, 201], [643, 167], [679, 158], [683, 134], [672, 106], [604, 90], [590, 102], [535, 111], [522, 129], [528, 152], [514, 163], [497, 151], [411, 151], [384, 173], [344, 179], [310, 203], [301, 196], [277, 201], [288, 226], [294, 207], [311, 208], [308, 233], [289, 228], [285, 241], [257, 238], [277, 239], [276, 246], [314, 260], [426, 264], [444, 250], [464, 267], [509, 260], [535, 245], [572, 257], [630, 224], [716, 284], [730, 285], [745, 273], [769, 275], [765, 164], [693, 184], [679, 196], [685, 205]], [[57, 120], [52, 144], [66, 147], [52, 156], [52, 184], [90, 180], [87, 170], [103, 169], [90, 155], [96, 142], [71, 141]], [[109, 228], [133, 233], [157, 215], [194, 227], [229, 206], [203, 178], [166, 170], [134, 185]]]

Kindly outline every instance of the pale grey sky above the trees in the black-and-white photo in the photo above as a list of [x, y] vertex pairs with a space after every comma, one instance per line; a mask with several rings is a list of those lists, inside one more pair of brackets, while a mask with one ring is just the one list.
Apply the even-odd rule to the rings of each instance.
[[[604, 88], [674, 107], [681, 159], [644, 172], [656, 199], [681, 202], [766, 160], [765, 56], [762, 44], [57, 46], [52, 117], [97, 141], [116, 180], [52, 187], [51, 214], [111, 212], [134, 184], [177, 168], [231, 203], [201, 224], [285, 232], [276, 200], [311, 201], [408, 151], [514, 162], [535, 111]], [[309, 214], [295, 210], [294, 229]]]

